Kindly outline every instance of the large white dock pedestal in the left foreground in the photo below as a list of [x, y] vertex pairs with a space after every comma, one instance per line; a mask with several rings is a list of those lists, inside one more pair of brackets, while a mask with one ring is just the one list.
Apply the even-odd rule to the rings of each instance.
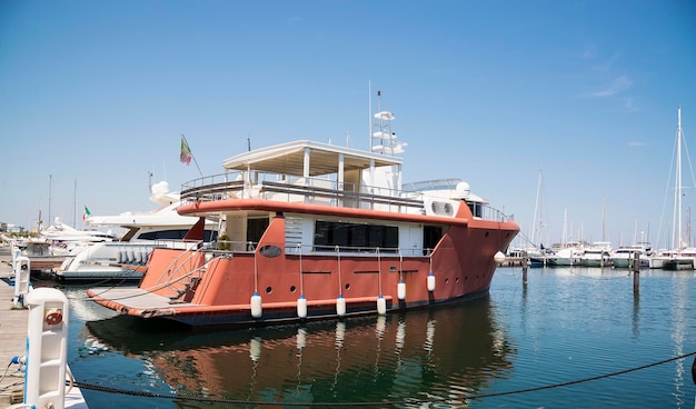
[[63, 409], [68, 357], [68, 298], [54, 288], [38, 288], [27, 295], [27, 372], [24, 405]]

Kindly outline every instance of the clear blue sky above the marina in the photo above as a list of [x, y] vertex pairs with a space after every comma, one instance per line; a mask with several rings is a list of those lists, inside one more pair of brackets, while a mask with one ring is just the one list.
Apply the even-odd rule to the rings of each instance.
[[0, 221], [148, 211], [150, 181], [179, 190], [248, 144], [369, 149], [378, 90], [404, 181], [466, 180], [516, 245], [667, 247], [696, 2], [3, 0]]

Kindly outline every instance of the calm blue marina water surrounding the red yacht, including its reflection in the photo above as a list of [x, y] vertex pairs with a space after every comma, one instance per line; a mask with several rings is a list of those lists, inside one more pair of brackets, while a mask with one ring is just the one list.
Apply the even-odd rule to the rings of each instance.
[[[425, 285], [425, 283], [424, 283]], [[233, 331], [169, 331], [73, 299], [69, 365], [91, 408], [694, 408], [696, 275], [500, 268], [490, 296], [404, 315]], [[98, 340], [101, 350], [89, 348]], [[209, 403], [206, 398], [233, 403]], [[395, 405], [390, 405], [395, 402]], [[331, 405], [334, 403], [334, 405]], [[282, 406], [282, 405], [279, 405]], [[287, 405], [289, 406], [289, 405]], [[265, 406], [269, 407], [269, 406]]]

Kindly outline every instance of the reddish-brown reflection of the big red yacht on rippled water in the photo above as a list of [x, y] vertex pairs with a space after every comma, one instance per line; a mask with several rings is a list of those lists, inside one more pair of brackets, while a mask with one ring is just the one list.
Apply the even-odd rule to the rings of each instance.
[[215, 332], [172, 332], [131, 318], [87, 327], [111, 349], [148, 360], [156, 368], [151, 376], [179, 396], [463, 401], [506, 377], [516, 353], [488, 297], [405, 313]]

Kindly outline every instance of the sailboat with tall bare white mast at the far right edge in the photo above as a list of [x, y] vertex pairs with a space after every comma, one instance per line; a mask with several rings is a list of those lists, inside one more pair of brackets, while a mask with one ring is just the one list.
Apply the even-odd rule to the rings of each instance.
[[[682, 235], [682, 108], [677, 108], [677, 153], [676, 153], [676, 178], [674, 193], [674, 218], [672, 227], [673, 243], [676, 248], [665, 251], [650, 259], [650, 268], [663, 268], [665, 270], [693, 270], [696, 259], [696, 248], [687, 247]], [[690, 240], [689, 240], [690, 241]]]

